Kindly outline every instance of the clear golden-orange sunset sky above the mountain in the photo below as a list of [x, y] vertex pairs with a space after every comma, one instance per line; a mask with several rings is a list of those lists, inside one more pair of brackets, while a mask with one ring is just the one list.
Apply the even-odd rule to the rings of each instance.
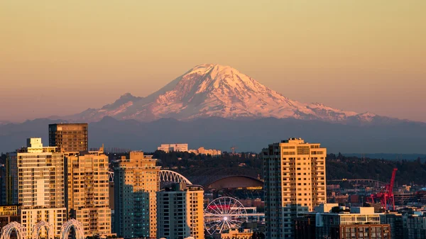
[[0, 121], [229, 65], [290, 99], [426, 122], [426, 1], [0, 1]]

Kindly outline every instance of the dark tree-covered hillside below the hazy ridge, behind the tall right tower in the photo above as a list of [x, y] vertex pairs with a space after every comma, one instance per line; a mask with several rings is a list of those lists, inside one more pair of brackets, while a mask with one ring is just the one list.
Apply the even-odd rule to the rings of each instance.
[[[204, 168], [229, 168], [235, 172], [248, 172], [250, 174], [263, 174], [263, 161], [261, 155], [254, 152], [231, 154], [224, 152], [219, 156], [195, 155], [188, 152], [163, 152], [147, 153], [158, 159], [158, 164], [182, 174], [192, 174], [197, 169]], [[426, 163], [422, 160], [383, 160], [360, 157], [345, 157], [342, 154], [327, 155], [327, 179], [378, 179], [389, 182], [393, 168], [398, 168], [395, 183], [426, 185]], [[228, 171], [229, 172], [229, 171]]]

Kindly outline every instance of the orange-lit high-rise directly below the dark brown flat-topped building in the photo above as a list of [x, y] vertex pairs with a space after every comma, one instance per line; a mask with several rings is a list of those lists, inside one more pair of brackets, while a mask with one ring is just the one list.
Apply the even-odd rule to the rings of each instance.
[[111, 234], [108, 156], [99, 151], [65, 155], [67, 209], [80, 221], [84, 236]]

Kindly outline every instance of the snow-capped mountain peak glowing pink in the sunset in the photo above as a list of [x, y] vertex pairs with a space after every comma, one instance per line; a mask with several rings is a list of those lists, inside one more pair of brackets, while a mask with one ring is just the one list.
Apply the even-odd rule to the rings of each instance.
[[158, 118], [189, 120], [222, 118], [298, 118], [330, 122], [370, 122], [373, 113], [333, 109], [323, 104], [293, 101], [232, 67], [197, 65], [162, 89], [146, 97], [124, 94], [102, 109], [87, 109], [70, 118], [99, 121], [117, 119], [153, 121]]

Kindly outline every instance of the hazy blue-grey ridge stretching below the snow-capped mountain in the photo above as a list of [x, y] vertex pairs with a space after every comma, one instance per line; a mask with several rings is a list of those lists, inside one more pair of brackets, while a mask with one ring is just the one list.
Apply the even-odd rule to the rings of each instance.
[[[40, 118], [0, 126], [0, 152], [26, 145], [26, 138], [43, 138], [48, 145], [48, 124], [64, 120]], [[398, 121], [391, 124], [347, 125], [295, 118], [256, 118], [252, 120], [220, 117], [178, 121], [117, 120], [106, 116], [89, 123], [89, 147], [131, 148], [153, 152], [161, 143], [188, 143], [192, 149], [214, 148], [229, 151], [260, 152], [268, 144], [287, 138], [303, 138], [321, 143], [327, 152], [426, 154], [426, 123]], [[400, 159], [402, 159], [400, 157]]]

